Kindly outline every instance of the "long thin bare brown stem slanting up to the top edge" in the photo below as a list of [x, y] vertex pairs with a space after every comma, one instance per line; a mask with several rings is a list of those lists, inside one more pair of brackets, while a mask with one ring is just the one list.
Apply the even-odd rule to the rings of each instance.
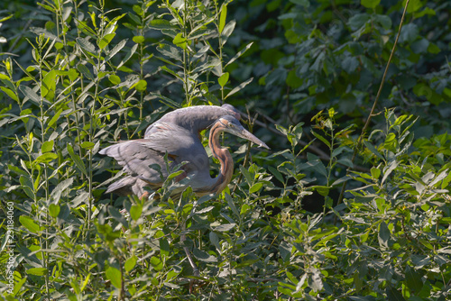
[[[357, 151], [359, 150], [360, 144], [362, 143], [362, 140], [364, 139], [366, 129], [368, 128], [368, 125], [370, 124], [372, 117], [375, 115], [374, 111], [376, 110], [376, 105], [377, 105], [377, 102], [379, 101], [379, 97], [381, 97], [382, 87], [385, 82], [385, 78], [387, 76], [388, 70], [389, 70], [391, 59], [393, 58], [394, 51], [396, 50], [396, 45], [398, 44], [398, 40], [400, 38], [400, 30], [402, 28], [402, 23], [404, 23], [404, 17], [406, 15], [407, 7], [409, 6], [409, 2], [410, 2], [410, 0], [407, 0], [406, 5], [404, 6], [404, 12], [402, 13], [402, 16], [400, 18], [400, 27], [398, 29], [398, 34], [396, 35], [396, 39], [393, 43], [393, 48], [391, 49], [391, 53], [390, 53], [389, 60], [387, 61], [387, 65], [385, 66], [385, 71], [383, 72], [383, 75], [382, 75], [381, 85], [379, 86], [379, 90], [377, 91], [376, 99], [374, 99], [373, 107], [371, 109], [370, 114], [368, 115], [368, 118], [366, 119], [364, 128], [362, 129], [362, 133], [360, 134], [359, 139], [357, 140], [357, 144], [355, 145], [353, 158], [351, 159], [351, 162], [353, 164], [354, 164], [355, 157], [357, 156]], [[348, 175], [350, 171], [351, 171], [351, 168], [346, 169], [346, 175]], [[338, 202], [336, 205], [340, 205], [341, 202], [343, 201], [343, 197], [345, 196], [345, 190], [346, 190], [346, 182], [343, 183], [343, 187], [340, 191], [340, 196], [338, 196]], [[334, 223], [336, 223], [336, 217], [335, 217]]]

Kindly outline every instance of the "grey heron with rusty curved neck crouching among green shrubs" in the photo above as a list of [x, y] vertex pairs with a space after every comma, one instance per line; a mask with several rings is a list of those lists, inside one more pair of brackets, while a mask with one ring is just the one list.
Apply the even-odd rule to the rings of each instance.
[[[217, 114], [225, 115], [217, 116]], [[114, 158], [128, 174], [111, 184], [106, 193], [148, 197], [149, 191], [144, 187], [156, 190], [169, 176], [166, 156], [170, 160], [169, 169], [184, 164], [180, 168], [182, 173], [175, 178], [176, 182], [187, 178], [184, 181], [185, 186], [191, 187], [197, 196], [220, 193], [230, 183], [234, 172], [234, 162], [229, 150], [219, 143], [222, 132], [232, 133], [269, 149], [263, 141], [246, 131], [237, 117], [239, 113], [232, 105], [214, 108], [205, 105], [179, 109], [152, 123], [143, 139], [121, 141], [100, 150], [100, 154]], [[212, 122], [214, 119], [216, 120]], [[199, 135], [199, 131], [207, 127], [210, 128], [208, 145], [213, 156], [221, 164], [216, 178], [210, 177], [207, 151]], [[160, 168], [155, 168], [155, 165]], [[176, 190], [172, 195], [176, 196], [179, 193], [180, 190]]]

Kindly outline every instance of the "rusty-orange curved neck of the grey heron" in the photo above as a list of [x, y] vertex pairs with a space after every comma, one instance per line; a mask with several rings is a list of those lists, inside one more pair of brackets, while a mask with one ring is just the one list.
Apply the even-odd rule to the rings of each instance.
[[232, 180], [234, 174], [234, 160], [230, 152], [226, 148], [222, 148], [219, 144], [219, 135], [222, 129], [219, 126], [213, 126], [210, 130], [208, 146], [213, 156], [221, 163], [221, 170], [217, 177], [213, 179], [213, 185], [210, 187], [210, 193], [221, 192], [226, 188], [227, 184]]

